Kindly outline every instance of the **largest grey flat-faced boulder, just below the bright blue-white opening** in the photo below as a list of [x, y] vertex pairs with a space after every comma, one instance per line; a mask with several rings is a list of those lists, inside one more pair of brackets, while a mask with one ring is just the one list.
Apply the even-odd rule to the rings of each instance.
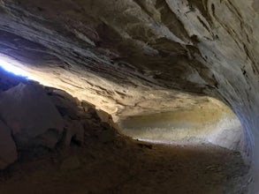
[[19, 84], [0, 93], [0, 100], [0, 116], [17, 146], [56, 146], [64, 121], [42, 86]]

